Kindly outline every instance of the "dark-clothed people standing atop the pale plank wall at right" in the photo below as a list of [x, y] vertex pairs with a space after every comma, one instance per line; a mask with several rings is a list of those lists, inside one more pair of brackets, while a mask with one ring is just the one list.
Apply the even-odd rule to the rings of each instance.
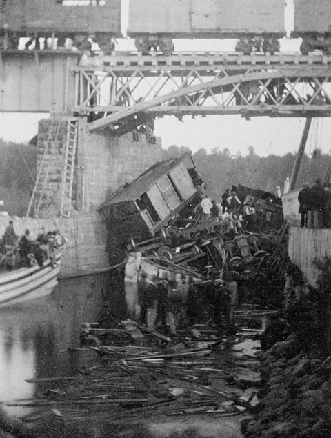
[[298, 195], [301, 228], [331, 228], [331, 185], [303, 183]]

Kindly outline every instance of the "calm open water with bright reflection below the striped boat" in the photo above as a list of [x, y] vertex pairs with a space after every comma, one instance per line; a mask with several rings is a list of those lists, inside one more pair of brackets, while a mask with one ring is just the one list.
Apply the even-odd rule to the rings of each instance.
[[0, 401], [45, 390], [45, 384], [26, 379], [75, 375], [81, 366], [95, 363], [94, 352], [68, 353], [66, 348], [79, 347], [82, 322], [97, 321], [101, 293], [108, 286], [107, 275], [63, 279], [48, 297], [0, 309]]

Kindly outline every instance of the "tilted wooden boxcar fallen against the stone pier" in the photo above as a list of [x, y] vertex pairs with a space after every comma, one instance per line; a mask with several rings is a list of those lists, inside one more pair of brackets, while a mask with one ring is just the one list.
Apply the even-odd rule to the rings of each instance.
[[153, 237], [197, 195], [201, 181], [189, 152], [156, 163], [132, 183], [117, 190], [101, 205], [106, 218], [110, 259], [121, 261], [128, 237]]

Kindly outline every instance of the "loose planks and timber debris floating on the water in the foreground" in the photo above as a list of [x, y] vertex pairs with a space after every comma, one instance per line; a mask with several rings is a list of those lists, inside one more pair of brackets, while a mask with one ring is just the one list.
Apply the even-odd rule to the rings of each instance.
[[[121, 330], [131, 336], [131, 344], [116, 345], [123, 336]], [[94, 345], [99, 344], [81, 349], [92, 348], [96, 364], [78, 376], [29, 379], [43, 384], [43, 392], [9, 404], [27, 408], [24, 424], [51, 416], [62, 428], [83, 428], [88, 437], [96, 428], [103, 432], [119, 424], [130, 428], [134, 421], [143, 427], [144, 421], [156, 417], [165, 421], [188, 415], [243, 419], [243, 412], [259, 404], [260, 352], [254, 338], [261, 330], [219, 338], [216, 331], [201, 325], [177, 344], [155, 333], [143, 336], [133, 321], [123, 321], [117, 331], [89, 324], [83, 331], [86, 339], [92, 337]], [[105, 335], [108, 342], [101, 344]], [[63, 354], [77, 351], [68, 348]], [[40, 430], [38, 436], [43, 436]]]

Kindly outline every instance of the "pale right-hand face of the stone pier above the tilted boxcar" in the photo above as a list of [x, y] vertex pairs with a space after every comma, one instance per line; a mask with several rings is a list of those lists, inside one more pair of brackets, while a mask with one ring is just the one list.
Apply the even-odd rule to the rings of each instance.
[[161, 139], [128, 132], [121, 137], [90, 133], [79, 121], [77, 154], [77, 210], [95, 210], [106, 196], [132, 182], [161, 161]]

